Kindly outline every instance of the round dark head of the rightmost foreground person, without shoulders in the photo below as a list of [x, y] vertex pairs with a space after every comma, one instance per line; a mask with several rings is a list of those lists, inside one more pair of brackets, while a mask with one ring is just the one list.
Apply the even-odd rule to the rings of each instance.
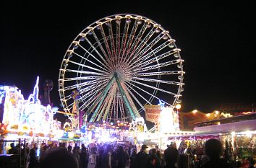
[[205, 142], [205, 154], [211, 159], [219, 159], [222, 152], [221, 141], [209, 139]]

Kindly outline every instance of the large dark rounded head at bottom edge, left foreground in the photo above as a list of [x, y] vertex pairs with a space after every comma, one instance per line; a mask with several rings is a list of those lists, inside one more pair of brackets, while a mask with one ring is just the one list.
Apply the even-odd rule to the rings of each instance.
[[51, 149], [40, 158], [40, 168], [78, 168], [78, 162], [65, 149]]

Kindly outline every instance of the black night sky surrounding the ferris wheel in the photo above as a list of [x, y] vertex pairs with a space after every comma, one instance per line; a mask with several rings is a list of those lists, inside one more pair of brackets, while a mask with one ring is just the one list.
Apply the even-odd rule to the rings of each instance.
[[255, 4], [95, 4], [1, 6], [0, 84], [16, 85], [26, 98], [36, 76], [40, 84], [52, 79], [51, 100], [59, 106], [59, 68], [74, 37], [97, 19], [130, 13], [161, 24], [182, 49], [182, 110], [209, 112], [221, 103], [256, 103]]

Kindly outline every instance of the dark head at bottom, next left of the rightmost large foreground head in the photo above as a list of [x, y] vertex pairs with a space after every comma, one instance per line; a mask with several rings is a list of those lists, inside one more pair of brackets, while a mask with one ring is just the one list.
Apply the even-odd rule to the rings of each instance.
[[169, 147], [164, 151], [164, 159], [167, 165], [174, 165], [178, 162], [179, 151], [174, 147]]

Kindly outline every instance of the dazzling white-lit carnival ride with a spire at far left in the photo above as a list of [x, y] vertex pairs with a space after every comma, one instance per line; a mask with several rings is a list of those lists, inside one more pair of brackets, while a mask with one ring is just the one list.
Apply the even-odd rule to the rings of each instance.
[[53, 138], [59, 131], [61, 124], [54, 120], [58, 109], [51, 105], [41, 105], [38, 83], [39, 77], [36, 79], [33, 94], [27, 100], [17, 87], [0, 86], [0, 100], [3, 105], [0, 136], [6, 139]]

